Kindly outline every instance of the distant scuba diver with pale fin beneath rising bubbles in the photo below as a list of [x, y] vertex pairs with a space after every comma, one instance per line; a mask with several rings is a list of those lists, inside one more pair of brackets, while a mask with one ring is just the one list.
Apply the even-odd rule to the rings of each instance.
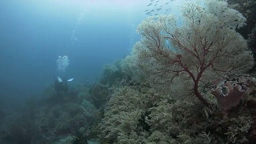
[[52, 86], [54, 86], [54, 90], [57, 92], [68, 92], [68, 85], [67, 82], [71, 82], [74, 78], [71, 78], [67, 81], [62, 80], [61, 77], [54, 78], [54, 83]]

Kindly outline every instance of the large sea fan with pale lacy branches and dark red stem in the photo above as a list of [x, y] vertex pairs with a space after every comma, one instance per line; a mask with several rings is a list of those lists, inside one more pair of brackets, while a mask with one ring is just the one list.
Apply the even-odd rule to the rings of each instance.
[[200, 94], [203, 83], [252, 68], [254, 62], [246, 41], [235, 29], [246, 18], [219, 0], [205, 0], [181, 6], [183, 25], [174, 14], [150, 16], [138, 25], [141, 35], [133, 50], [139, 68], [162, 92], [177, 99]]

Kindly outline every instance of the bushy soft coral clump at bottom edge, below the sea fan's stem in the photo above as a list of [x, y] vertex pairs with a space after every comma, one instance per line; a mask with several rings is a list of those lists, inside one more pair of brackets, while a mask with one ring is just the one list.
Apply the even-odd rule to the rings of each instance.
[[[204, 122], [200, 122], [198, 108], [189, 102], [162, 100], [150, 108], [148, 123], [154, 131], [148, 140], [166, 144], [208, 144], [210, 134], [204, 133]], [[196, 120], [197, 119], [197, 120]], [[207, 135], [207, 136], [206, 136]]]

